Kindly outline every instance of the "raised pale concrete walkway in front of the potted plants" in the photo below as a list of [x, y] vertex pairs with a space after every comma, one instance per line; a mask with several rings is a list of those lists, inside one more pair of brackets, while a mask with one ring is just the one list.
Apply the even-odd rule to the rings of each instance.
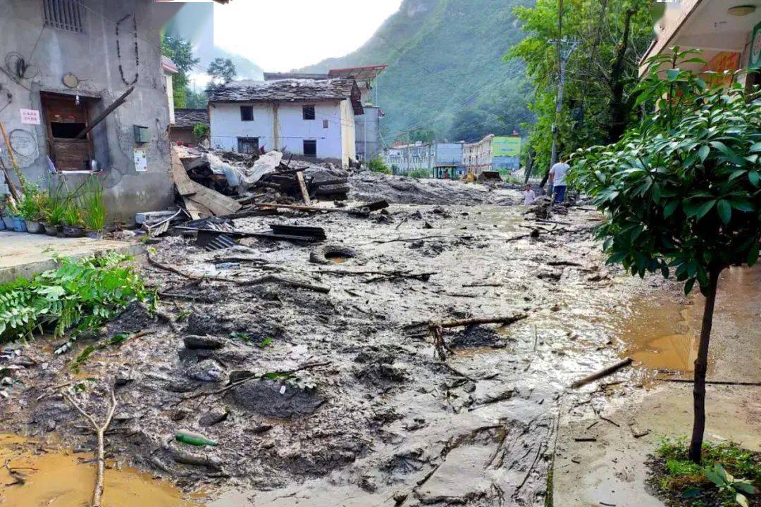
[[0, 284], [56, 268], [53, 255], [85, 257], [103, 252], [138, 255], [140, 244], [90, 238], [56, 238], [0, 231]]

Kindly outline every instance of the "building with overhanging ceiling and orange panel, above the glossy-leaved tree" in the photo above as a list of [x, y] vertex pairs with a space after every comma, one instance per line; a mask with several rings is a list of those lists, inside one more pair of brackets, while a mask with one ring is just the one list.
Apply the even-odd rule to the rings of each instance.
[[[680, 49], [701, 49], [708, 65], [690, 62], [682, 65], [693, 71], [738, 70], [761, 67], [761, 5], [739, 0], [681, 0], [665, 5], [664, 17], [655, 27], [657, 38], [640, 62], [640, 76], [653, 55]], [[751, 86], [761, 84], [759, 73], [745, 74], [740, 80]]]

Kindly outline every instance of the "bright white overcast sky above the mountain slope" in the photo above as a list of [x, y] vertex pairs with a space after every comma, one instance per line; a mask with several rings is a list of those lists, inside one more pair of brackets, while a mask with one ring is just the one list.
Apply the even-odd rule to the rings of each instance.
[[361, 46], [402, 0], [235, 0], [215, 5], [215, 45], [265, 71], [289, 71]]

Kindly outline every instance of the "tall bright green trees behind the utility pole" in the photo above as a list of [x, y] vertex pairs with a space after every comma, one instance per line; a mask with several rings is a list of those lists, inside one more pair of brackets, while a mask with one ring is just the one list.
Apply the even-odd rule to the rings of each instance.
[[[512, 47], [506, 60], [523, 59], [535, 88], [530, 110], [536, 122], [530, 147], [536, 151], [535, 173], [549, 170], [552, 125], [559, 129], [560, 151], [618, 141], [636, 120], [634, 93], [638, 62], [651, 42], [651, 0], [564, 0], [562, 34], [558, 0], [537, 0], [514, 10], [527, 37]], [[566, 66], [562, 112], [556, 119], [558, 46], [552, 40], [575, 40], [578, 46]]]

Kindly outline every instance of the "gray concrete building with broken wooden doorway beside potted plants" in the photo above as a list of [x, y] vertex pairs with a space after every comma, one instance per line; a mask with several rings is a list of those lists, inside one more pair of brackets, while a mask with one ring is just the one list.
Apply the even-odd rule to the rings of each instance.
[[[174, 201], [170, 95], [159, 44], [161, 27], [180, 6], [154, 0], [0, 2], [0, 48], [8, 64], [0, 71], [0, 122], [27, 179], [42, 185], [64, 179], [75, 189], [97, 168], [110, 218], [125, 221]], [[130, 87], [121, 106], [80, 136]], [[8, 151], [0, 147], [9, 166]]]

